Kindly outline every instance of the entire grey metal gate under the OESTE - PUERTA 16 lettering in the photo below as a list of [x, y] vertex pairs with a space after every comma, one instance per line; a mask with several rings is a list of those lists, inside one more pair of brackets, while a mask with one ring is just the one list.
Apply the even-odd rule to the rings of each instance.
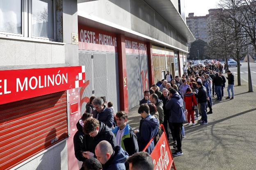
[[[117, 53], [81, 50], [79, 65], [85, 66], [86, 81], [89, 85], [80, 88], [81, 114], [91, 96], [105, 96], [119, 110], [119, 78]], [[88, 77], [88, 78], [87, 78]]]

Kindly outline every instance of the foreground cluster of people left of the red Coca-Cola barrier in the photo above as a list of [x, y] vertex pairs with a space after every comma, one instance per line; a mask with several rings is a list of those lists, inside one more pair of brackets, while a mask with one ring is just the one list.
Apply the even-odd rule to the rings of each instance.
[[[145, 96], [148, 93], [146, 91]], [[145, 97], [144, 102], [147, 103], [149, 98], [162, 109], [162, 102], [156, 94]], [[141, 104], [138, 113], [142, 120], [139, 130], [134, 131], [127, 123], [128, 115], [125, 111], [114, 114], [112, 102], [107, 103], [105, 97], [90, 97], [85, 113], [77, 122], [78, 131], [73, 137], [75, 157], [83, 162], [81, 170], [139, 170], [137, 167], [141, 165], [153, 170], [149, 154], [155, 146], [154, 141], [146, 148], [146, 152], [142, 150], [151, 138], [158, 136], [159, 116], [156, 118], [158, 113], [150, 114], [148, 104]], [[135, 158], [141, 161], [135, 162]]]

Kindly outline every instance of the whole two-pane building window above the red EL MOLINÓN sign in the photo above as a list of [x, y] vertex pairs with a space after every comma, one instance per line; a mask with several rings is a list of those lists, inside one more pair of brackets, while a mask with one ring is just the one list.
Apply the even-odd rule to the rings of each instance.
[[0, 0], [0, 34], [55, 40], [55, 0]]

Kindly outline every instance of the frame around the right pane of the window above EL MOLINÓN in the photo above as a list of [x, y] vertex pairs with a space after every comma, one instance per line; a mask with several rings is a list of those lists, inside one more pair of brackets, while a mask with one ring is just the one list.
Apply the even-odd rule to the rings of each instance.
[[32, 0], [28, 0], [28, 33], [29, 37], [33, 39], [45, 39], [50, 41], [56, 41], [56, 0], [53, 1], [53, 38], [46, 38], [41, 36], [33, 36], [32, 29]]

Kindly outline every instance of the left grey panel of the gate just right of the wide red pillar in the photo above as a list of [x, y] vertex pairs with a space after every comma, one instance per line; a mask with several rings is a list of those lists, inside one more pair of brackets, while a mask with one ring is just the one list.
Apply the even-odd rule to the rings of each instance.
[[129, 109], [139, 104], [140, 98], [138, 91], [138, 66], [134, 54], [126, 54], [127, 86]]

